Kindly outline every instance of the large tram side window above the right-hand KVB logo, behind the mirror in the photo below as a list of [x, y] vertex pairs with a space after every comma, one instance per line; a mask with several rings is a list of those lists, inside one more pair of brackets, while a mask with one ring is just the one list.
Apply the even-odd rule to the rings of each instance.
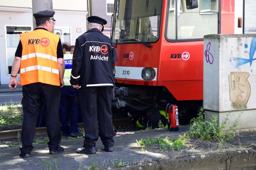
[[170, 0], [167, 38], [169, 40], [197, 39], [207, 34], [218, 34], [218, 3], [218, 0], [198, 0], [198, 8], [188, 9], [186, 0]]

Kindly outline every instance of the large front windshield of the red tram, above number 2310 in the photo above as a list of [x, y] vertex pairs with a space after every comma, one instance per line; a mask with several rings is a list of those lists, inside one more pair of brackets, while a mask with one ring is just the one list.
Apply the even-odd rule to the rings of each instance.
[[115, 2], [114, 43], [155, 42], [160, 32], [163, 1], [118, 0]]

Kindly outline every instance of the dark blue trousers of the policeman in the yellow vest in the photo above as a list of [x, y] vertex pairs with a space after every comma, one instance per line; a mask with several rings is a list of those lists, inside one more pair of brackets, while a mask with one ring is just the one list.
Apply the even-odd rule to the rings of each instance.
[[[63, 86], [60, 88], [60, 108], [59, 118], [62, 125], [61, 131], [63, 134], [78, 133], [78, 101], [76, 98], [79, 96], [78, 89], [72, 86]], [[68, 103], [70, 104], [70, 124], [69, 129], [69, 115], [68, 115]]]

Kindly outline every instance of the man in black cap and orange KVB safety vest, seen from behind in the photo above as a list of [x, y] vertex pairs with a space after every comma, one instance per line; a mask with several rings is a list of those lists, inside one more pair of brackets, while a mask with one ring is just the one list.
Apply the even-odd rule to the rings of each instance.
[[23, 121], [19, 156], [27, 158], [33, 149], [33, 139], [41, 103], [46, 109], [46, 128], [49, 137], [49, 153], [63, 152], [60, 141], [59, 103], [60, 87], [63, 87], [65, 64], [60, 37], [52, 34], [56, 21], [54, 11], [39, 11], [33, 14], [37, 28], [20, 34], [15, 53], [9, 88], [14, 90], [20, 70], [20, 85], [23, 94]]

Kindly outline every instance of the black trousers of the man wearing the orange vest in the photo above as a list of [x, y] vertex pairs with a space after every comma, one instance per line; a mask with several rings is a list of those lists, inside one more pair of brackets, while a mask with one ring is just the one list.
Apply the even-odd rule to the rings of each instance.
[[24, 154], [29, 154], [33, 149], [32, 142], [41, 103], [46, 109], [45, 122], [49, 137], [48, 147], [49, 150], [56, 150], [61, 141], [59, 124], [60, 87], [44, 83], [31, 83], [22, 87], [22, 94], [23, 121], [22, 147], [20, 147], [20, 150]]

